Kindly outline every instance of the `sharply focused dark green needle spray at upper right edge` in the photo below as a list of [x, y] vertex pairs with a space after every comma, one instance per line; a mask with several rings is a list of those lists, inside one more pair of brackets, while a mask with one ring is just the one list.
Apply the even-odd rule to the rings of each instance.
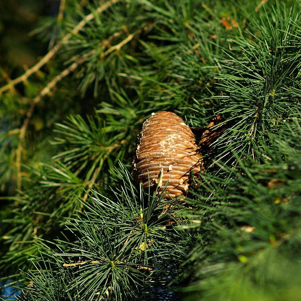
[[214, 96], [221, 102], [218, 112], [229, 116], [228, 131], [218, 142], [221, 157], [236, 150], [254, 158], [268, 133], [298, 115], [301, 99], [294, 91], [300, 88], [300, 12], [280, 12], [278, 5], [273, 23], [265, 16], [253, 22], [248, 38], [230, 42], [239, 54], [223, 62], [218, 78], [223, 95]]

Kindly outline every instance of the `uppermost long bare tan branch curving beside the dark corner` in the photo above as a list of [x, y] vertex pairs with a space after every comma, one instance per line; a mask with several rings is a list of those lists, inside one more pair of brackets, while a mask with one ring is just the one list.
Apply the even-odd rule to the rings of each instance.
[[24, 82], [27, 78], [29, 78], [33, 73], [36, 73], [43, 65], [45, 65], [52, 56], [56, 54], [56, 52], [61, 48], [62, 44], [67, 42], [73, 35], [76, 35], [88, 22], [94, 19], [96, 13], [102, 13], [106, 9], [108, 9], [113, 4], [119, 2], [121, 0], [111, 0], [109, 2], [104, 3], [103, 5], [99, 6], [95, 10], [95, 12], [90, 13], [86, 17], [83, 18], [74, 28], [73, 30], [65, 35], [61, 41], [57, 42], [57, 44], [39, 61], [37, 62], [33, 67], [28, 69], [23, 75], [19, 76], [18, 78], [13, 79], [8, 84], [0, 88], [0, 94], [2, 94], [4, 91], [7, 91], [11, 87], [15, 86], [18, 83]]

